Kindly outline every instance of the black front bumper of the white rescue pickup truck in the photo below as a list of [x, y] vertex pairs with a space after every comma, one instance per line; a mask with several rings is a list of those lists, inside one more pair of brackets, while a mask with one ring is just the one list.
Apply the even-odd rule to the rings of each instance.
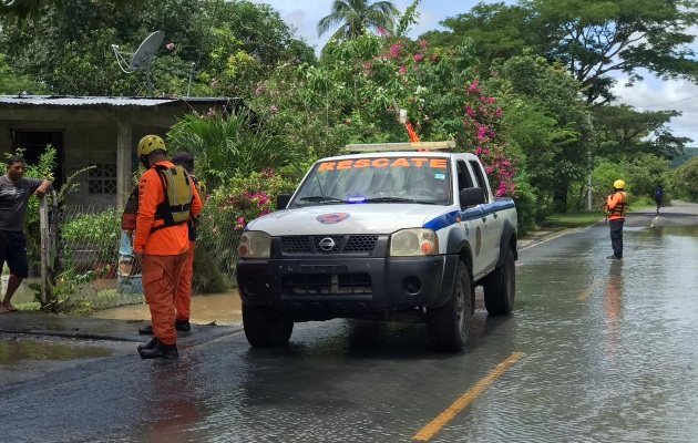
[[240, 259], [237, 285], [246, 305], [298, 317], [361, 317], [444, 305], [456, 255], [341, 259]]

